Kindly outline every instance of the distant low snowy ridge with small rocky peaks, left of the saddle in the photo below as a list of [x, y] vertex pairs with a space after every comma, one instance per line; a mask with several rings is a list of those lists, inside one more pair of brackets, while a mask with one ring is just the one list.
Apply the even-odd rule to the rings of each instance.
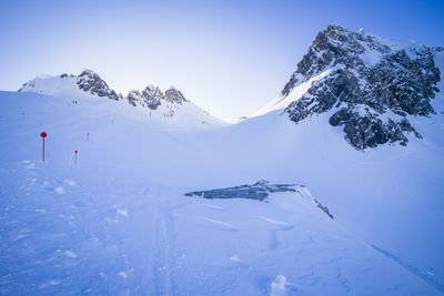
[[[216, 127], [225, 123], [198, 105], [186, 100], [184, 95], [171, 86], [162, 92], [158, 86], [148, 85], [142, 92], [133, 90], [127, 96], [117, 94], [95, 72], [84, 70], [79, 75], [61, 74], [59, 76], [41, 75], [27, 83], [19, 92], [37, 92], [48, 94], [75, 103], [91, 103], [97, 99], [115, 101], [128, 116], [143, 114], [154, 124], [176, 129]], [[112, 105], [115, 103], [103, 102]], [[129, 109], [124, 105], [135, 108]]]

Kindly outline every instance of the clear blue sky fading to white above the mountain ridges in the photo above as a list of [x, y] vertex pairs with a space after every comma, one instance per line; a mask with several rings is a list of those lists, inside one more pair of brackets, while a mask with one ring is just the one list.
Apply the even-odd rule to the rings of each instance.
[[0, 1], [0, 90], [95, 71], [127, 94], [171, 85], [229, 122], [273, 100], [330, 23], [444, 44], [444, 1]]

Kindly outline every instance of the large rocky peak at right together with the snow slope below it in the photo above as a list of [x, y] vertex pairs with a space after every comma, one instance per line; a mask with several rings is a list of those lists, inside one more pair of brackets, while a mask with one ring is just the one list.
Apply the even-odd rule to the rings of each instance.
[[238, 149], [213, 152], [251, 182], [307, 185], [347, 231], [443, 292], [443, 47], [330, 25], [283, 93], [218, 135]]

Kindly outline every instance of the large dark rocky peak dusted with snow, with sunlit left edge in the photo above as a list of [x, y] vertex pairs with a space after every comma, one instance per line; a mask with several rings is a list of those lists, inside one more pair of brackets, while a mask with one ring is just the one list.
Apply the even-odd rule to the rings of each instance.
[[434, 57], [443, 48], [396, 42], [331, 24], [317, 34], [281, 95], [259, 114], [285, 109], [292, 121], [329, 112], [357, 150], [406, 145], [422, 135], [413, 116], [435, 114], [440, 90]]

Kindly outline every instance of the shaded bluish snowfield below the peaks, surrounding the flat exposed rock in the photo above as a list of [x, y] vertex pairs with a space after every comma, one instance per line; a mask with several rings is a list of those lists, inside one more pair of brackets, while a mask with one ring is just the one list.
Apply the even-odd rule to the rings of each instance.
[[[323, 122], [173, 130], [103, 100], [0, 92], [0, 294], [444, 290], [443, 145], [428, 125], [427, 145], [363, 153]], [[258, 180], [306, 187], [184, 195]]]

